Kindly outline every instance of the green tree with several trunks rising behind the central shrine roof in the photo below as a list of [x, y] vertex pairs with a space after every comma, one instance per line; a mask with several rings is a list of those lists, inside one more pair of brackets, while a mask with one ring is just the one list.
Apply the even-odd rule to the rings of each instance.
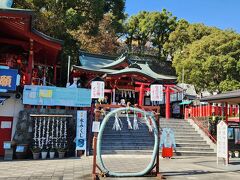
[[158, 56], [161, 57], [164, 54], [163, 44], [175, 26], [176, 17], [165, 9], [162, 12], [141, 11], [131, 16], [125, 25], [127, 45], [131, 51], [133, 42], [136, 41], [140, 54], [144, 54], [146, 43], [152, 43], [152, 48], [157, 48]]

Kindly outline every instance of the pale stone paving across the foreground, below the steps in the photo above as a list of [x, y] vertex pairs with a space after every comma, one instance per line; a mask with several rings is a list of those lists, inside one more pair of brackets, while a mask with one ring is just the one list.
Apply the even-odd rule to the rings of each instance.
[[[103, 156], [105, 165], [111, 171], [140, 171], [150, 161], [149, 155]], [[226, 167], [216, 164], [215, 157], [176, 157], [160, 159], [160, 169], [166, 179], [205, 179], [205, 180], [239, 180], [240, 159], [230, 161]], [[92, 157], [81, 159], [0, 161], [0, 180], [88, 180], [91, 178]], [[145, 178], [106, 178], [108, 179], [156, 179]]]

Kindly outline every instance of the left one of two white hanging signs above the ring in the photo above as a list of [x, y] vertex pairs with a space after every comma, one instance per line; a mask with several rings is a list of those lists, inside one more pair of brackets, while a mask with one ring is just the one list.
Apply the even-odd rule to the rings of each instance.
[[92, 81], [91, 84], [91, 98], [104, 98], [104, 82], [103, 81]]

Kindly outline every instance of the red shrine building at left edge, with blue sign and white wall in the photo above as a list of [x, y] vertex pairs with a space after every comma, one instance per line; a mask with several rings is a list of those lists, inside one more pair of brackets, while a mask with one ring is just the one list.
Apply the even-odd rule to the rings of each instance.
[[0, 7], [0, 156], [24, 109], [23, 86], [56, 84], [60, 74], [63, 42], [34, 29], [33, 15], [31, 10]]

